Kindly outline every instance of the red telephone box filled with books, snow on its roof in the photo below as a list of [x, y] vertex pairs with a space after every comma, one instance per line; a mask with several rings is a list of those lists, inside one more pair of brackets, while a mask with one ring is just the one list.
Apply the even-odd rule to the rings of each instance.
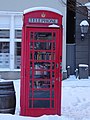
[[20, 114], [61, 114], [62, 15], [50, 8], [24, 11]]

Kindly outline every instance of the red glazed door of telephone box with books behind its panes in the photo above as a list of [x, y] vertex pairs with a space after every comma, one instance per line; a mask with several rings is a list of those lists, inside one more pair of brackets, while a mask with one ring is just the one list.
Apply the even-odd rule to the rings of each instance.
[[26, 115], [60, 115], [60, 36], [60, 28], [26, 28]]

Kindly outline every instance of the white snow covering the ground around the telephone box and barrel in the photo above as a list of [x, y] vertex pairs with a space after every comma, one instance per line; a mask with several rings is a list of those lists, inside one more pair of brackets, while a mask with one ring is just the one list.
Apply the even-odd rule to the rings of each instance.
[[62, 81], [62, 115], [41, 117], [20, 116], [20, 80], [14, 80], [16, 91], [15, 115], [0, 114], [0, 120], [90, 120], [90, 78], [76, 79], [75, 76]]

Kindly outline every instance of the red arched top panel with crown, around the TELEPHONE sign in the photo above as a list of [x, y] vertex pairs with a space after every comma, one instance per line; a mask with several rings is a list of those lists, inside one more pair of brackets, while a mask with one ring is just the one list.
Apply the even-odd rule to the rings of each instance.
[[[42, 17], [42, 14], [45, 16]], [[62, 25], [62, 15], [51, 12], [51, 11], [46, 11], [46, 10], [38, 10], [38, 11], [33, 11], [29, 12], [27, 14], [24, 14], [24, 26], [43, 26], [43, 27], [48, 27], [48, 25], [51, 25], [53, 23], [29, 23], [29, 18], [42, 18], [42, 19], [57, 19], [58, 23], [57, 25], [61, 26]]]

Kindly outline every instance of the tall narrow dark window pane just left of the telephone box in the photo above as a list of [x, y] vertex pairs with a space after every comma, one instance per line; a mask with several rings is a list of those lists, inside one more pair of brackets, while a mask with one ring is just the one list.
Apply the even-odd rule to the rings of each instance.
[[15, 69], [20, 69], [21, 64], [21, 42], [15, 42]]

